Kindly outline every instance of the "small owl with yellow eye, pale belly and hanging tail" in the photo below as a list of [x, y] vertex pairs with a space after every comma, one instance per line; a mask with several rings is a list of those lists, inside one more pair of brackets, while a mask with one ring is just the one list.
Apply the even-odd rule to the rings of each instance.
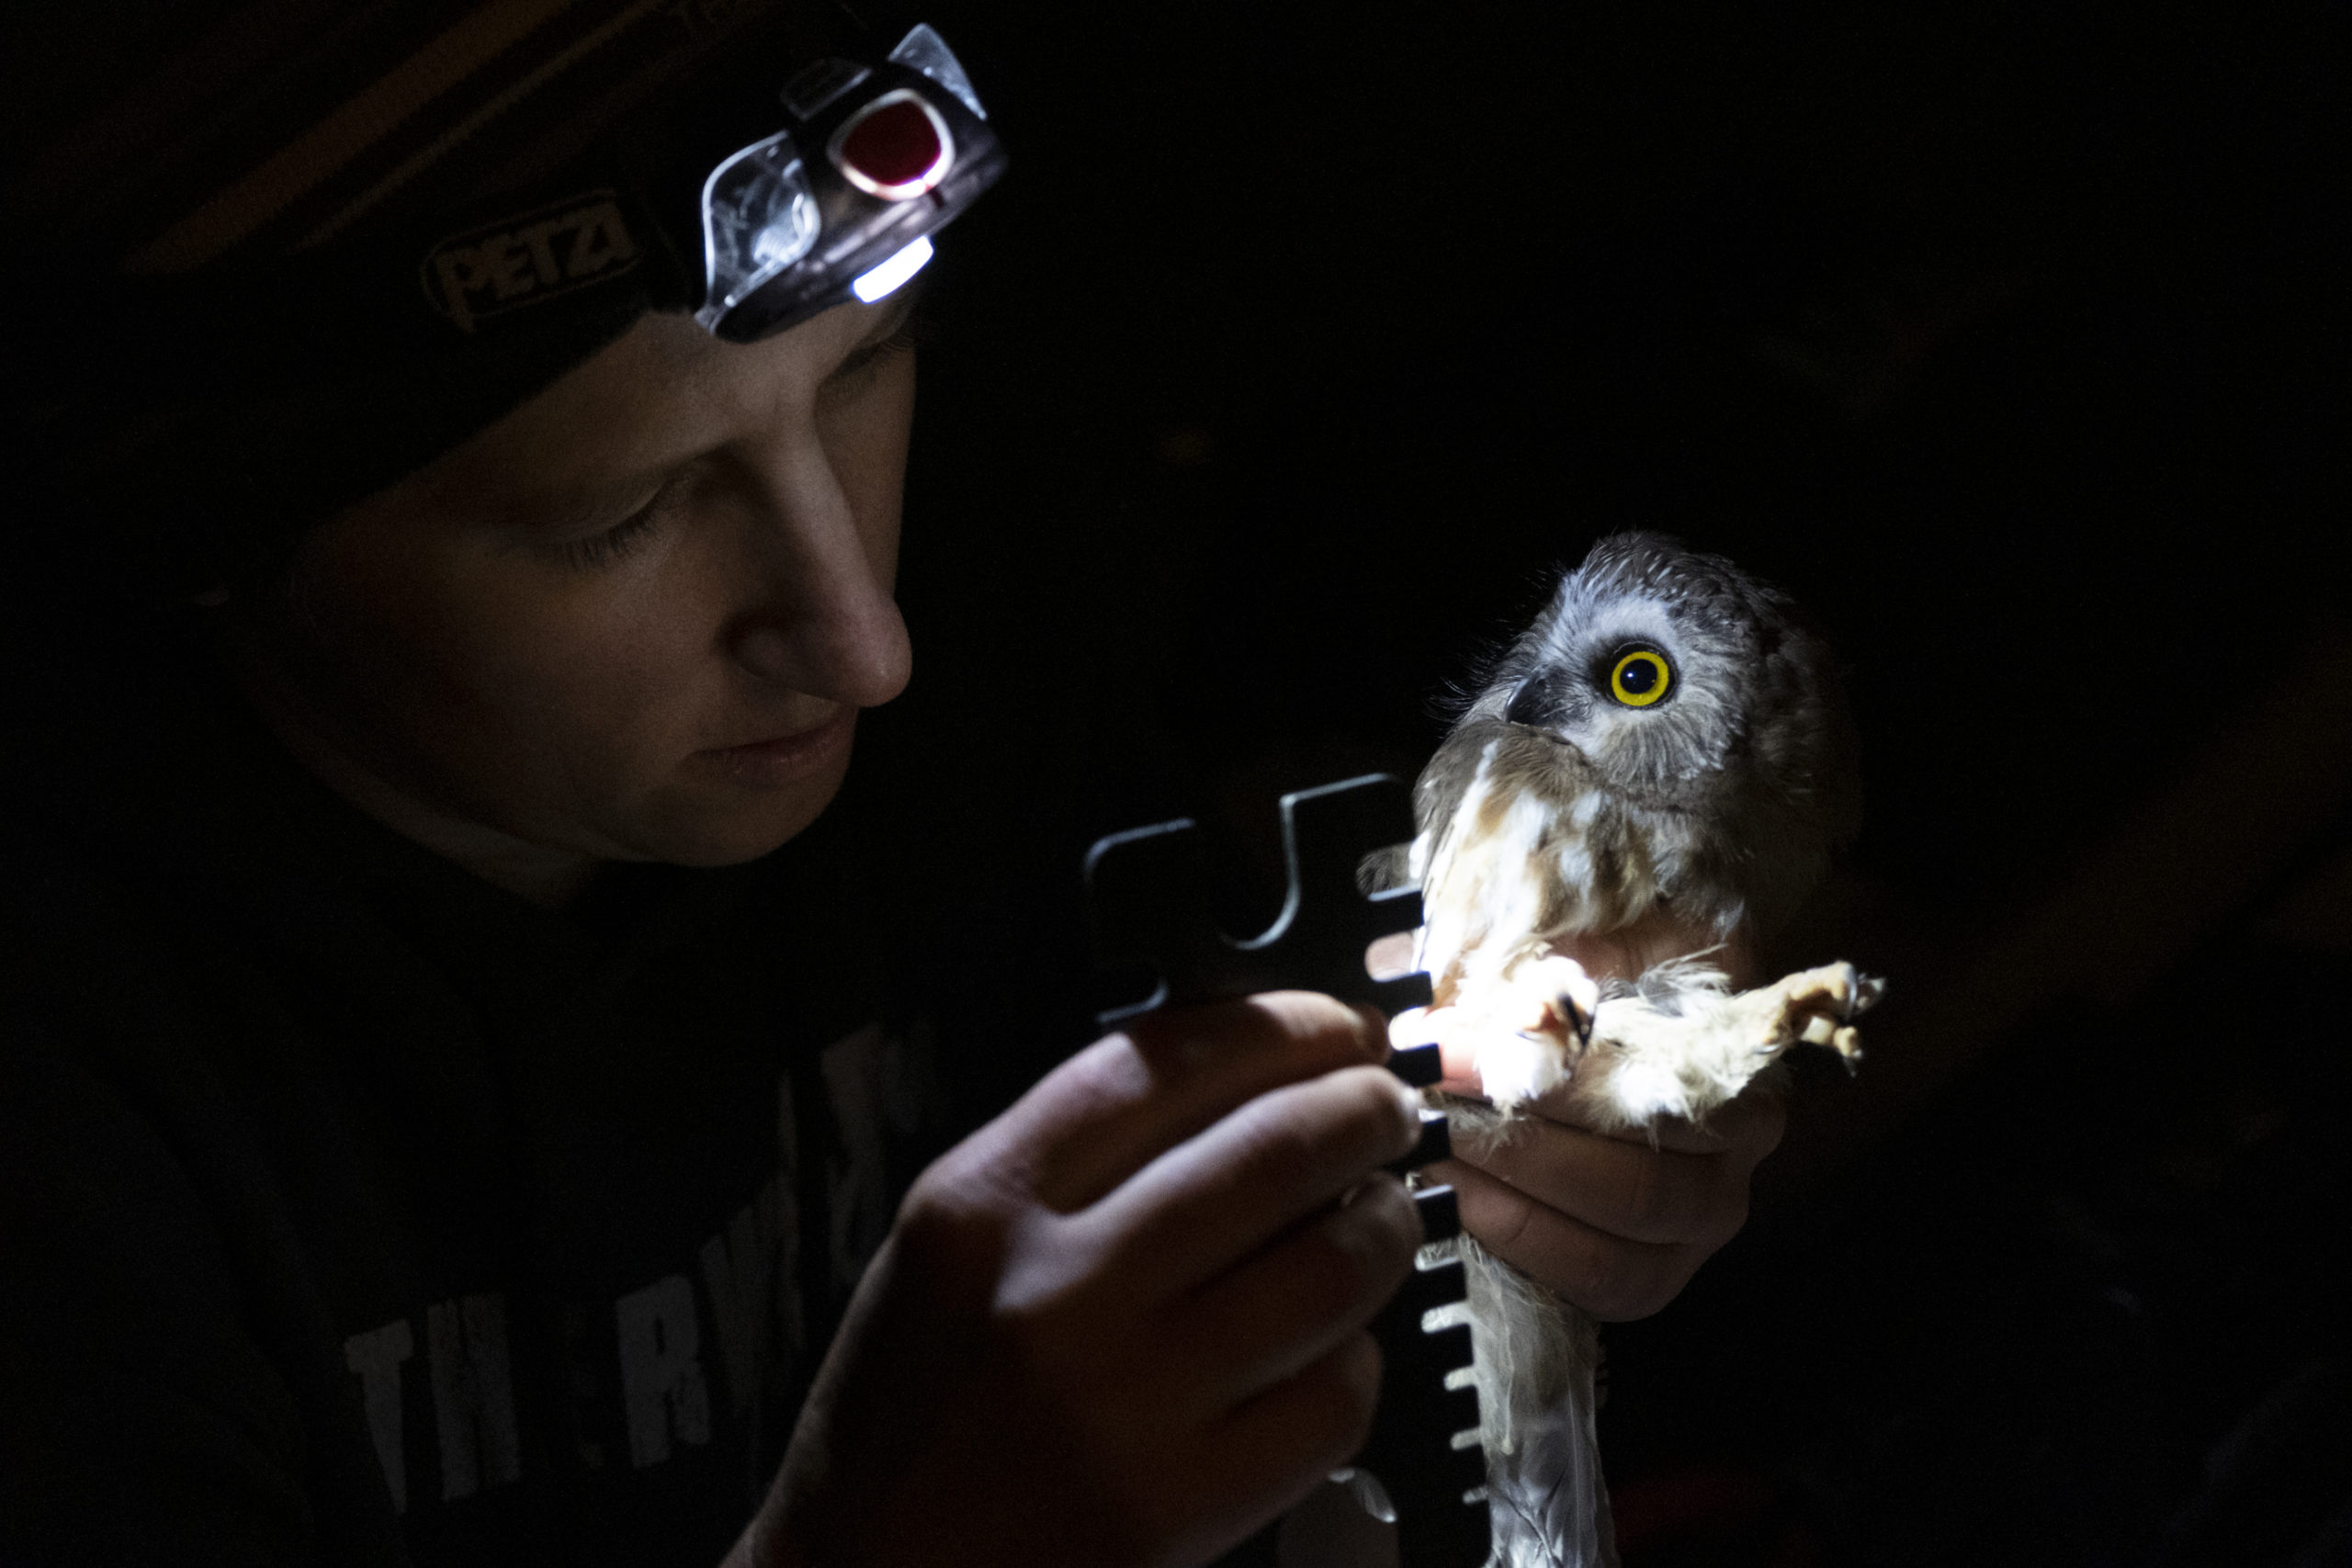
[[[1795, 1044], [1851, 1063], [1875, 978], [1743, 992], [1729, 954], [1823, 879], [1858, 792], [1837, 668], [1785, 595], [1658, 534], [1597, 543], [1421, 773], [1406, 863], [1369, 867], [1421, 884], [1432, 1004], [1406, 1027], [1465, 1046], [1486, 1093], [1446, 1098], [1456, 1140], [1510, 1138], [1538, 1095], [1602, 1131], [1705, 1121]], [[1613, 1563], [1597, 1328], [1463, 1248], [1494, 1561]]]

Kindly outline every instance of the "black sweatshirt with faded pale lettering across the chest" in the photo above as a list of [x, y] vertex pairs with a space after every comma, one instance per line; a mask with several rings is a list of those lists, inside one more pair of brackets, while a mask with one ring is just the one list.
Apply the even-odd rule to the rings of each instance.
[[847, 811], [546, 912], [233, 703], [0, 865], [0, 1566], [701, 1563], [934, 1152]]

